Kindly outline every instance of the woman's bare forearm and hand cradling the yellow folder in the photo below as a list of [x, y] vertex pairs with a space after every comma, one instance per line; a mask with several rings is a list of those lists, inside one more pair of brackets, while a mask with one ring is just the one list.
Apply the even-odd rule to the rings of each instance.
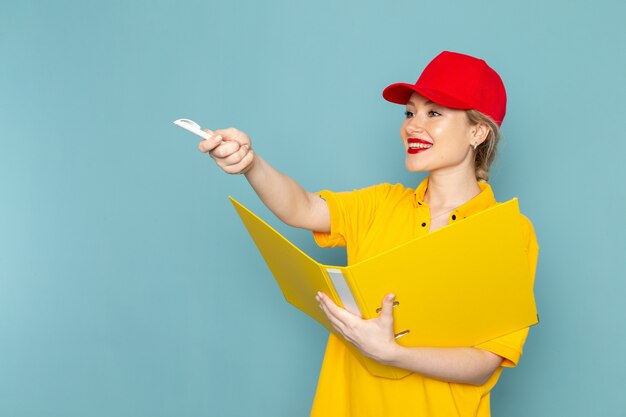
[[473, 347], [403, 347], [393, 334], [393, 294], [383, 299], [380, 316], [363, 320], [338, 307], [325, 294], [317, 300], [332, 326], [364, 355], [384, 364], [461, 384], [483, 385], [502, 363], [502, 358]]

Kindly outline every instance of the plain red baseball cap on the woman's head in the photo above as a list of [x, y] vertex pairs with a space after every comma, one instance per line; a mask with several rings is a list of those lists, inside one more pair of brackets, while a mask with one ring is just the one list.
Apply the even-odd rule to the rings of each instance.
[[414, 92], [445, 107], [478, 110], [498, 126], [506, 113], [506, 90], [498, 73], [482, 59], [458, 52], [440, 53], [415, 84], [391, 84], [383, 91], [383, 97], [392, 103], [406, 104]]

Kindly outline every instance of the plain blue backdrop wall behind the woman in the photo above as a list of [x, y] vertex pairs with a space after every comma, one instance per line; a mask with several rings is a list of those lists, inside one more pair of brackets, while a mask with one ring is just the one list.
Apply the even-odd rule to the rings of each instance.
[[305, 416], [325, 331], [226, 198], [324, 262], [171, 122], [237, 126], [310, 190], [415, 186], [403, 108], [441, 50], [509, 94], [492, 170], [541, 253], [495, 416], [626, 416], [626, 7], [618, 1], [3, 1], [0, 415]]

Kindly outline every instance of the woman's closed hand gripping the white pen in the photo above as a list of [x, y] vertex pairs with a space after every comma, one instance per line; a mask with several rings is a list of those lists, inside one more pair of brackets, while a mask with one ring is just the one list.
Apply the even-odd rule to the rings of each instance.
[[244, 132], [229, 128], [214, 132], [211, 139], [198, 144], [200, 152], [208, 153], [217, 165], [228, 174], [245, 174], [254, 163], [254, 151], [250, 138]]

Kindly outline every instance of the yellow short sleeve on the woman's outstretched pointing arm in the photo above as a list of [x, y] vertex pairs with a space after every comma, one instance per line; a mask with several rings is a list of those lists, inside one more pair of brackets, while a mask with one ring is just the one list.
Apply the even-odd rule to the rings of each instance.
[[323, 190], [322, 197], [330, 212], [330, 232], [313, 232], [315, 242], [321, 247], [347, 246], [358, 241], [374, 220], [376, 210], [388, 192], [389, 184], [373, 185], [353, 191], [333, 192]]

